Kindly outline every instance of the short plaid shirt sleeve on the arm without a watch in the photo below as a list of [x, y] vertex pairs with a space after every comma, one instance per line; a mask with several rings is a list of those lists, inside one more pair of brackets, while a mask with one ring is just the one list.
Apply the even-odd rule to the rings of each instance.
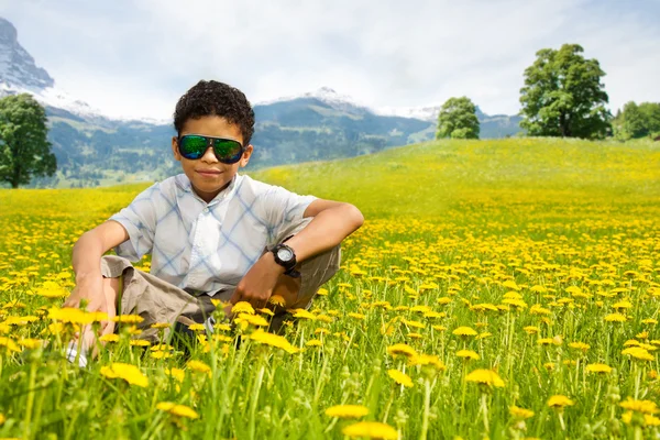
[[158, 191], [158, 184], [151, 186], [140, 193], [131, 205], [110, 217], [110, 220], [119, 222], [129, 233], [129, 240], [114, 248], [119, 256], [136, 262], [152, 252], [156, 232], [154, 196]]

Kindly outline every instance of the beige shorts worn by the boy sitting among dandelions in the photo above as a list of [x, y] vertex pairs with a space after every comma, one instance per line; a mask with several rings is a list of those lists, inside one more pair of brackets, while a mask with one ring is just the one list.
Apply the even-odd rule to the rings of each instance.
[[[309, 219], [305, 219], [298, 226], [292, 226], [284, 231], [283, 239], [292, 233], [298, 232]], [[336, 248], [315, 255], [300, 263], [300, 290], [298, 302], [293, 308], [309, 308], [319, 287], [330, 279], [341, 262], [341, 248]], [[127, 258], [117, 255], [106, 255], [101, 260], [101, 274], [106, 278], [122, 277], [121, 315], [139, 315], [143, 321], [138, 324], [142, 330], [140, 339], [157, 342], [160, 330], [151, 328], [156, 322], [195, 322], [202, 323], [216, 309], [211, 299], [228, 301], [233, 288], [222, 289], [213, 296], [206, 293], [195, 293], [180, 289], [152, 274], [147, 274], [133, 267]], [[118, 304], [119, 306], [119, 304]], [[284, 315], [284, 314], [280, 314]], [[278, 319], [277, 319], [278, 318]], [[280, 322], [282, 317], [274, 317], [273, 322]], [[165, 332], [167, 337], [169, 331]]]

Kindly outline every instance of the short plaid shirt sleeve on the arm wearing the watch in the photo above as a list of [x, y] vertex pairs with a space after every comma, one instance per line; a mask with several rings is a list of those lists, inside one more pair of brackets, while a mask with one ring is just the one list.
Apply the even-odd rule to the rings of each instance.
[[317, 199], [315, 196], [299, 196], [279, 186], [271, 187], [263, 197], [271, 242], [287, 226], [301, 220], [307, 207]]

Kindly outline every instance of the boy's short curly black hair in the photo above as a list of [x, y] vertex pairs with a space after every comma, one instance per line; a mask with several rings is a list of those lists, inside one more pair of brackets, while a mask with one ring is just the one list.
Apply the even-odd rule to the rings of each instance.
[[224, 82], [200, 80], [176, 103], [174, 129], [180, 134], [187, 120], [207, 116], [218, 116], [238, 124], [243, 145], [250, 144], [254, 134], [254, 110], [241, 90]]

